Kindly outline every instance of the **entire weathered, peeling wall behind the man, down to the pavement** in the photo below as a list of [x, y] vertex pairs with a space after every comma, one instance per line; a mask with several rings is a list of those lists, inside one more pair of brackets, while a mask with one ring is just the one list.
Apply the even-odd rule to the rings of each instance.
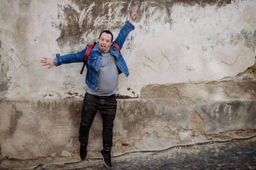
[[[0, 1], [2, 168], [79, 160], [83, 64], [50, 70], [139, 11], [122, 54], [113, 154], [256, 134], [256, 1]], [[136, 98], [136, 99], [127, 99]], [[97, 115], [89, 158], [101, 149]]]

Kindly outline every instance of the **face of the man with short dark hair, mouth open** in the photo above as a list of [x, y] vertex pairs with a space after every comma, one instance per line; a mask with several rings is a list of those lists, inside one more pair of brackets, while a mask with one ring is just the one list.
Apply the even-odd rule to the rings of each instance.
[[103, 53], [107, 53], [110, 49], [112, 42], [111, 42], [111, 34], [107, 34], [103, 32], [100, 38], [98, 38], [98, 49]]

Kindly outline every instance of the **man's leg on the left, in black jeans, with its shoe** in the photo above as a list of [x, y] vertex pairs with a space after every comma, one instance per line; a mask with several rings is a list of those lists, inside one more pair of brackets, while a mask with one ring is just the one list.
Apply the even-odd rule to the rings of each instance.
[[94, 97], [88, 93], [85, 94], [83, 100], [81, 123], [79, 128], [79, 141], [80, 141], [80, 157], [85, 160], [87, 156], [87, 144], [89, 138], [89, 129], [92, 126], [96, 112], [98, 111]]

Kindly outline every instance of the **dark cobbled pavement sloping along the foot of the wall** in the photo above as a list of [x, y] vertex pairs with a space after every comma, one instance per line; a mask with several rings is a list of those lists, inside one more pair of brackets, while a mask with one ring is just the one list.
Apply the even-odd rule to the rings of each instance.
[[[112, 169], [256, 169], [256, 137], [226, 142], [180, 145], [163, 151], [136, 151], [112, 158]], [[101, 159], [47, 167], [46, 169], [102, 170]]]

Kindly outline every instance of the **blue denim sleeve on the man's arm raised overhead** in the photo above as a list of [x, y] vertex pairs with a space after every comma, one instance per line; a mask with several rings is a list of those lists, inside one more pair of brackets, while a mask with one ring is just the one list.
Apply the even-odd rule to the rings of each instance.
[[120, 30], [118, 37], [114, 40], [114, 43], [116, 43], [120, 49], [122, 49], [122, 45], [124, 45], [127, 36], [132, 30], [134, 30], [134, 25], [129, 21], [126, 21], [125, 25]]

